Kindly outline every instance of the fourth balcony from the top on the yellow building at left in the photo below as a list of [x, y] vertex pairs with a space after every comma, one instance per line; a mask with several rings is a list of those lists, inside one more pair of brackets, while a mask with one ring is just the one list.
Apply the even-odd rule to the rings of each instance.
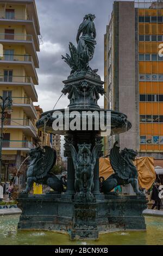
[[0, 76], [0, 86], [22, 86], [32, 101], [37, 102], [38, 96], [32, 80], [27, 76]]

